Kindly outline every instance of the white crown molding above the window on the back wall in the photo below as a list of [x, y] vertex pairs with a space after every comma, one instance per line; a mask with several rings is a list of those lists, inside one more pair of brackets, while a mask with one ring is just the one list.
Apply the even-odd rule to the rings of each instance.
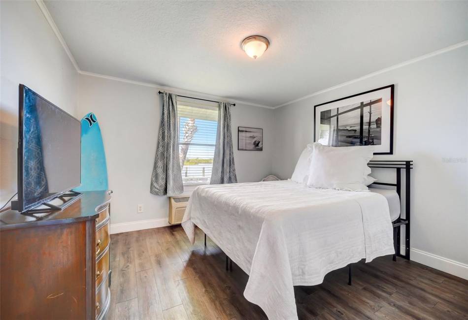
[[134, 85], [137, 85], [137, 86], [156, 88], [158, 90], [168, 91], [168, 92], [171, 92], [171, 93], [174, 93], [174, 94], [177, 94], [177, 95], [194, 96], [194, 97], [197, 97], [197, 98], [217, 100], [217, 101], [229, 101], [229, 102], [234, 102], [234, 103], [239, 103], [239, 104], [251, 105], [251, 106], [254, 106], [254, 107], [273, 109], [273, 107], [263, 105], [263, 104], [257, 104], [257, 103], [242, 101], [242, 100], [230, 99], [230, 98], [226, 98], [226, 97], [222, 97], [222, 96], [214, 96], [214, 95], [204, 94], [204, 93], [201, 93], [201, 92], [198, 92], [198, 91], [191, 91], [191, 90], [184, 90], [184, 89], [179, 89], [179, 88], [166, 87], [166, 86], [161, 86], [161, 85], [154, 84], [154, 83], [134, 81], [134, 80], [109, 76], [109, 75], [100, 74], [100, 73], [82, 71], [82, 70], [78, 71], [78, 73], [82, 74], [82, 75], [91, 76], [91, 77], [97, 77], [97, 78], [103, 78], [103, 79], [107, 79], [107, 80], [114, 80], [114, 81], [130, 83], [130, 84], [134, 84]]

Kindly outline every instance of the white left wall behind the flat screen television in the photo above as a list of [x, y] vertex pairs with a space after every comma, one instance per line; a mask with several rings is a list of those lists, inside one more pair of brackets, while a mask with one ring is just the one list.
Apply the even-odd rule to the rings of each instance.
[[70, 114], [78, 73], [35, 1], [0, 1], [0, 203], [17, 192], [18, 85]]

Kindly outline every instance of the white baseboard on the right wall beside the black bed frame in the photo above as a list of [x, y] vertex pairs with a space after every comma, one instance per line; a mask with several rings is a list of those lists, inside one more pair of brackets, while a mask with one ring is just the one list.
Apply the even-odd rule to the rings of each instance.
[[[405, 247], [401, 246], [401, 253], [404, 253]], [[427, 265], [428, 267], [450, 273], [451, 275], [468, 280], [468, 264], [458, 262], [443, 256], [437, 256], [419, 249], [410, 249], [410, 258], [412, 261]]]

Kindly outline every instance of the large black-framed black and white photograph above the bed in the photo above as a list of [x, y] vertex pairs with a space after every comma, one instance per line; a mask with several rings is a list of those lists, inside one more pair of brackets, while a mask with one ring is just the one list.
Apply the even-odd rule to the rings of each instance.
[[393, 154], [394, 85], [317, 104], [314, 141], [326, 146], [373, 146]]

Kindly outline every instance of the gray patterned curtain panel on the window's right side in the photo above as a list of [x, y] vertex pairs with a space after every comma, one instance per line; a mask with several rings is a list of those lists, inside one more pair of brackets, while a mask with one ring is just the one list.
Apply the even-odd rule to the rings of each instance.
[[231, 130], [231, 103], [219, 102], [218, 104], [218, 131], [210, 181], [212, 185], [237, 182]]

